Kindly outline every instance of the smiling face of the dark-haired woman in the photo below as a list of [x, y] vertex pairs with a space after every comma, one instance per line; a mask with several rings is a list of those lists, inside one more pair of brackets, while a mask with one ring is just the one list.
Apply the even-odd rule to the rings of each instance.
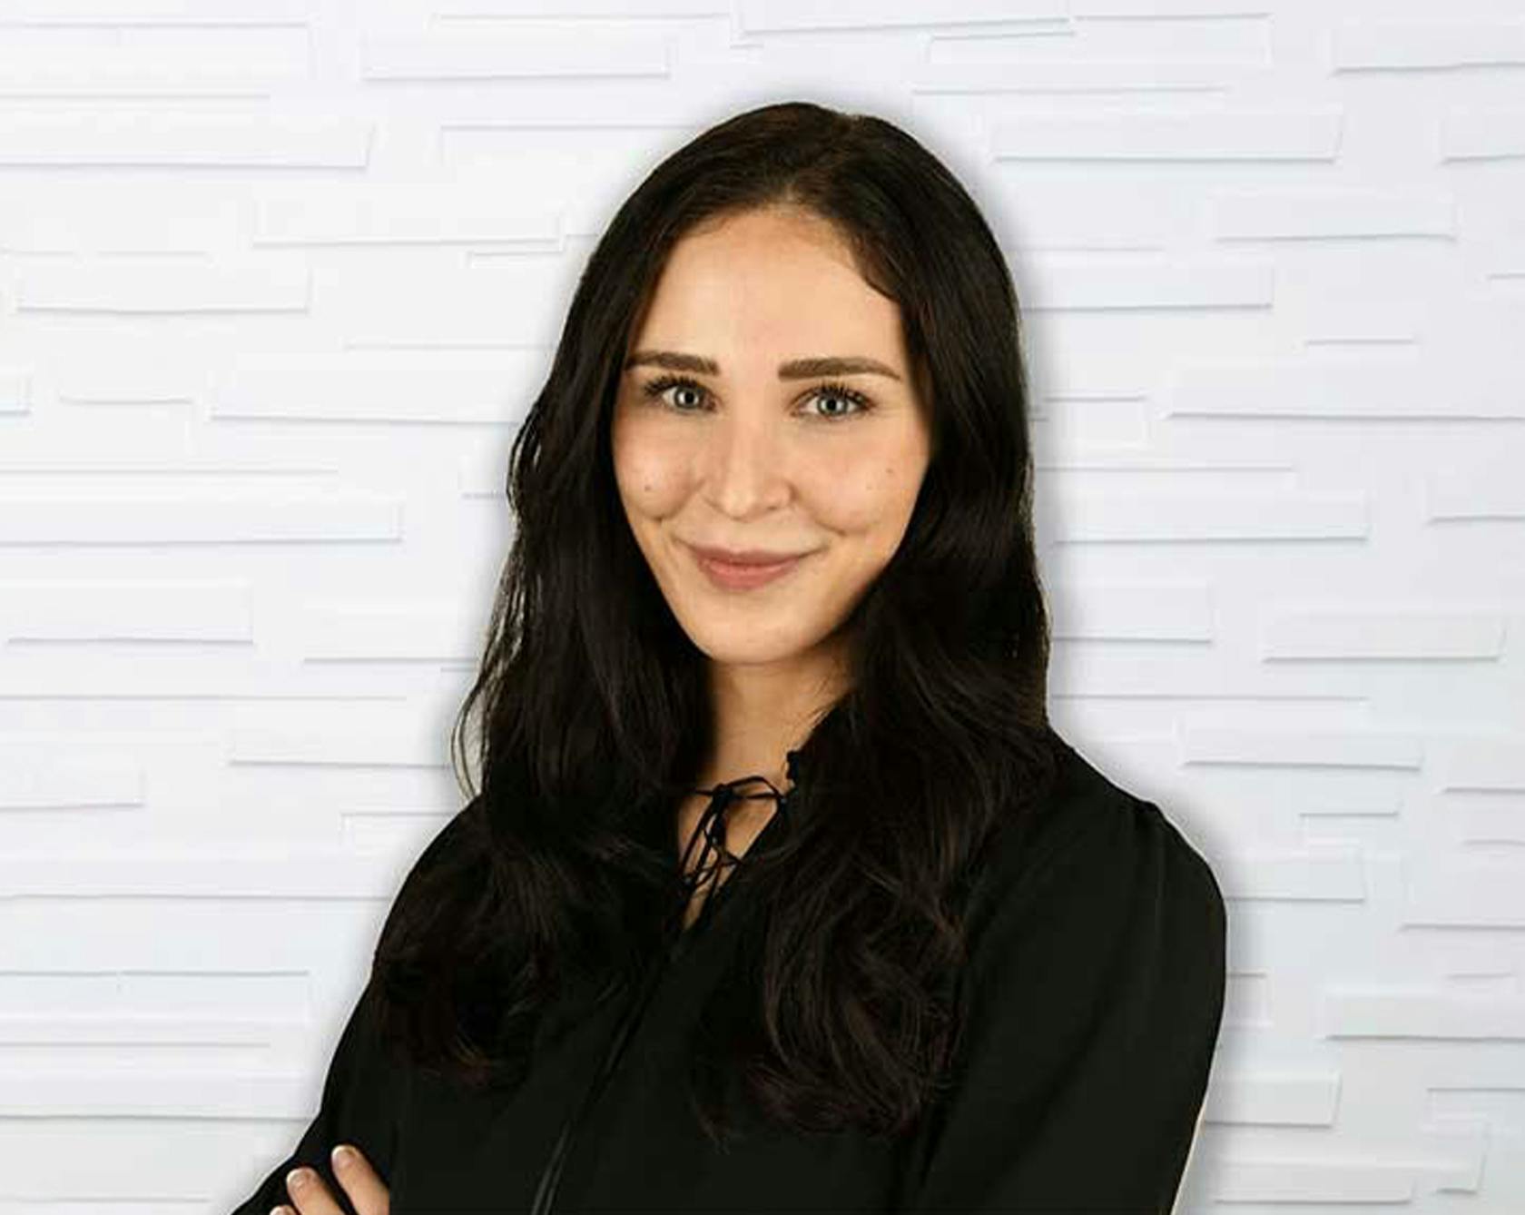
[[[854, 365], [790, 366], [837, 359]], [[612, 444], [662, 594], [726, 664], [795, 658], [836, 632], [898, 548], [930, 458], [897, 304], [825, 221], [781, 208], [674, 246], [627, 351]], [[805, 556], [735, 589], [689, 545]]]

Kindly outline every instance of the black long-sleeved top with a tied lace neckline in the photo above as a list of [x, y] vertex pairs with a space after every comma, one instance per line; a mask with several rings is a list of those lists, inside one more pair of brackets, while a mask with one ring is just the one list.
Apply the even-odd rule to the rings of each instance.
[[[285, 1174], [299, 1163], [351, 1210], [328, 1160], [336, 1143], [378, 1169], [392, 1215], [1168, 1215], [1223, 1014], [1225, 904], [1157, 806], [1068, 745], [1060, 756], [1052, 801], [1025, 836], [1011, 833], [1020, 847], [997, 843], [971, 890], [956, 1087], [904, 1140], [762, 1120], [724, 1152], [705, 1137], [686, 1105], [682, 1047], [747, 919], [750, 887], [732, 875], [647, 989], [537, 1036], [511, 1093], [464, 1093], [390, 1064], [368, 985], [317, 1116], [233, 1215], [290, 1203]], [[695, 836], [709, 835], [715, 809]]]

